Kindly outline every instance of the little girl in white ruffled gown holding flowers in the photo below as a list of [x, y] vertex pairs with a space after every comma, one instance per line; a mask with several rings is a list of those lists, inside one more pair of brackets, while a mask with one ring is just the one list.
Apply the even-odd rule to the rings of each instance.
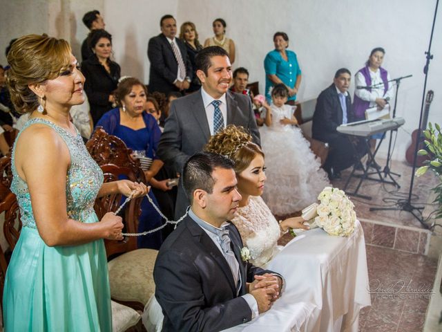
[[296, 127], [294, 110], [285, 104], [289, 90], [276, 84], [271, 91], [272, 104], [267, 105], [260, 127], [261, 146], [267, 166], [267, 188], [262, 199], [276, 215], [297, 212], [314, 203], [329, 185], [327, 173], [310, 149], [310, 143]]

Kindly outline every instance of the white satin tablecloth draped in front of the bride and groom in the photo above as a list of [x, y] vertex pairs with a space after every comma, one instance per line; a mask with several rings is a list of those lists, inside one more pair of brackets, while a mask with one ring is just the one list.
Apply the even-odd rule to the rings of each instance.
[[359, 221], [348, 238], [303, 232], [267, 268], [285, 277], [282, 297], [256, 320], [225, 331], [358, 331], [359, 310], [371, 305]]

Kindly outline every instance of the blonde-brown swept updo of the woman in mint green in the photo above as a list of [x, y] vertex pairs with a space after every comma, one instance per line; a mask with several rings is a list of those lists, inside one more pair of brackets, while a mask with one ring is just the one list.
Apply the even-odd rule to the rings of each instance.
[[39, 98], [31, 84], [54, 80], [70, 66], [70, 46], [64, 39], [47, 35], [27, 35], [17, 39], [8, 53], [6, 84], [11, 101], [20, 113], [34, 111]]

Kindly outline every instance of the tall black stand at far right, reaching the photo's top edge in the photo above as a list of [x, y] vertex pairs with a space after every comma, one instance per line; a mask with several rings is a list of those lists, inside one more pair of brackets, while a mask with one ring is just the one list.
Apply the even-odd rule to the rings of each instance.
[[[431, 29], [431, 35], [430, 35], [430, 44], [428, 45], [428, 50], [425, 52], [425, 58], [427, 59], [427, 62], [425, 62], [425, 66], [423, 67], [423, 73], [425, 75], [425, 80], [423, 83], [423, 93], [422, 93], [422, 104], [421, 104], [421, 117], [419, 118], [419, 127], [418, 127], [418, 135], [417, 137], [421, 137], [421, 127], [422, 127], [422, 118], [423, 118], [423, 105], [425, 104], [425, 91], [427, 89], [427, 78], [428, 78], [428, 69], [430, 68], [430, 60], [433, 59], [433, 55], [431, 54], [431, 44], [433, 40], [433, 33], [434, 33], [434, 24], [436, 24], [436, 15], [437, 15], [437, 8], [439, 6], [439, 0], [436, 0], [436, 8], [434, 9], [434, 19], [433, 19], [433, 26]], [[396, 105], [395, 105], [396, 106]], [[416, 172], [416, 160], [417, 160], [417, 151], [419, 149], [419, 144], [416, 144], [416, 147], [414, 148], [414, 163], [412, 168], [412, 179], [410, 182], [410, 190], [408, 191], [408, 198], [407, 201], [403, 201], [401, 199], [398, 199], [397, 201], [397, 208], [370, 208], [370, 211], [375, 210], [395, 210], [395, 211], [406, 211], [410, 212], [423, 226], [423, 228], [428, 229], [428, 225], [423, 221], [422, 219], [422, 212], [423, 207], [417, 207], [412, 205], [412, 193], [413, 193], [413, 184], [414, 184], [414, 176]], [[416, 212], [420, 212], [421, 216], [417, 215]]]

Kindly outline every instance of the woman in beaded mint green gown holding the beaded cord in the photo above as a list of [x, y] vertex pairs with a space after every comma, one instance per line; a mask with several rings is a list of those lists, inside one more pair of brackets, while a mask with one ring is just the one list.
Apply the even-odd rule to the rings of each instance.
[[84, 76], [63, 39], [21, 37], [8, 54], [8, 86], [22, 113], [32, 112], [12, 151], [11, 190], [23, 228], [3, 295], [5, 331], [112, 331], [103, 239], [122, 239], [122, 220], [101, 221], [97, 196], [145, 195], [131, 181], [103, 184], [69, 120], [84, 102]]

